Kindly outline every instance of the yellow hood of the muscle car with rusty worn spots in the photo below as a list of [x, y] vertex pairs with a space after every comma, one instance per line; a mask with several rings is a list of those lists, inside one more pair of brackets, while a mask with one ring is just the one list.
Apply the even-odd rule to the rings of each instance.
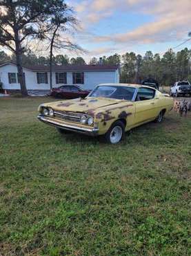
[[126, 100], [117, 100], [110, 98], [77, 98], [74, 100], [61, 100], [59, 102], [50, 102], [43, 104], [44, 107], [52, 107], [58, 111], [71, 111], [88, 113], [91, 110], [99, 110], [102, 107], [107, 107], [121, 102], [127, 102]]

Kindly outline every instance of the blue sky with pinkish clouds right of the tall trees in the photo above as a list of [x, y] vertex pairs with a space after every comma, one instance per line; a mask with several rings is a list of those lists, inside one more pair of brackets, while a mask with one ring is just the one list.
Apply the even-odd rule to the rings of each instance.
[[[73, 42], [86, 51], [82, 57], [146, 51], [163, 55], [169, 48], [191, 48], [191, 0], [68, 0], [80, 22]], [[72, 54], [74, 55], [74, 54]], [[79, 54], [81, 55], [81, 54]]]

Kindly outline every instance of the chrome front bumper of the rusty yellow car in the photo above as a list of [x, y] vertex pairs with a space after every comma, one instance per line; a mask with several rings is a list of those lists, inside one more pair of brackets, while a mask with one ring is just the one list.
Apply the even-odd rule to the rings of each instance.
[[46, 116], [43, 115], [39, 115], [37, 116], [37, 118], [41, 121], [41, 122], [45, 122], [48, 125], [52, 125], [54, 127], [58, 127], [60, 129], [63, 130], [67, 130], [67, 131], [74, 131], [80, 134], [86, 134], [89, 136], [97, 136], [98, 135], [98, 131], [99, 129], [96, 129], [94, 127], [91, 128], [83, 128], [83, 127], [78, 127], [78, 126], [74, 126], [74, 125], [68, 125], [65, 123], [61, 123], [61, 122], [57, 122], [57, 120], [53, 120], [52, 118], [47, 118]]

